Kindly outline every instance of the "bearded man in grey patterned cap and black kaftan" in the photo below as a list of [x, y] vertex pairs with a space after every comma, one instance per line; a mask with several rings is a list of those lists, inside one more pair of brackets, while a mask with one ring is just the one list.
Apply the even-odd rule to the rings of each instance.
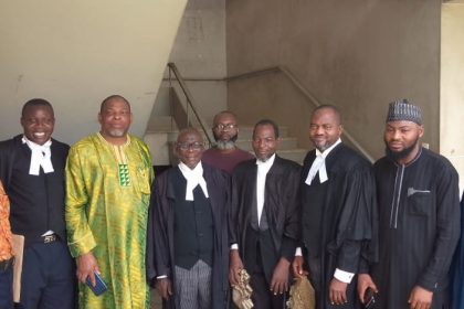
[[447, 273], [460, 235], [457, 172], [421, 147], [423, 134], [418, 106], [390, 104], [387, 156], [375, 164], [379, 262], [371, 265], [371, 277], [362, 274], [358, 280], [361, 299], [368, 287], [379, 291], [376, 308], [449, 308]]

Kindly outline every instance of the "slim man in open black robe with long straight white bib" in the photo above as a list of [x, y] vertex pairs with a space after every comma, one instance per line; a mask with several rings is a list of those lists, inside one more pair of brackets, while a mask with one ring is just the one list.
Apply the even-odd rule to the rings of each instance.
[[299, 164], [278, 157], [278, 127], [268, 119], [253, 130], [256, 159], [232, 174], [231, 285], [250, 274], [255, 309], [283, 309], [298, 237]]

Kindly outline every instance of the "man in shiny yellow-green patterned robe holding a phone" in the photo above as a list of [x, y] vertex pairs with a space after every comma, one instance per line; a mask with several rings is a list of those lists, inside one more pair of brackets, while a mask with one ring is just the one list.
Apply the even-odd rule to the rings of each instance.
[[[127, 134], [129, 103], [103, 100], [101, 131], [75, 143], [66, 164], [66, 227], [81, 283], [78, 308], [148, 308], [145, 249], [150, 184], [148, 147]], [[108, 289], [96, 297], [85, 285], [101, 275]]]

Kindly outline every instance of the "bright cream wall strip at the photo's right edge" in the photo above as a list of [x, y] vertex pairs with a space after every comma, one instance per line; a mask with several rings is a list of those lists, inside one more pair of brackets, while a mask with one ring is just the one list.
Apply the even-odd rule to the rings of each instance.
[[456, 167], [464, 188], [464, 3], [442, 9], [440, 151]]

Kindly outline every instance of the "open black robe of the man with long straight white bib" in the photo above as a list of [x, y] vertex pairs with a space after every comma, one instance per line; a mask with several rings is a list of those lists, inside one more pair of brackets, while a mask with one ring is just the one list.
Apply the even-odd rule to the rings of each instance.
[[[275, 252], [263, 256], [265, 277], [270, 279], [281, 257], [293, 260], [298, 239], [298, 179], [300, 166], [275, 156], [266, 174], [263, 215], [266, 215]], [[240, 163], [232, 174], [232, 207], [229, 223], [230, 244], [239, 245], [243, 262], [247, 255], [246, 231], [251, 226], [256, 202], [256, 160]], [[272, 259], [272, 260], [270, 260]], [[246, 265], [245, 265], [246, 267]]]

